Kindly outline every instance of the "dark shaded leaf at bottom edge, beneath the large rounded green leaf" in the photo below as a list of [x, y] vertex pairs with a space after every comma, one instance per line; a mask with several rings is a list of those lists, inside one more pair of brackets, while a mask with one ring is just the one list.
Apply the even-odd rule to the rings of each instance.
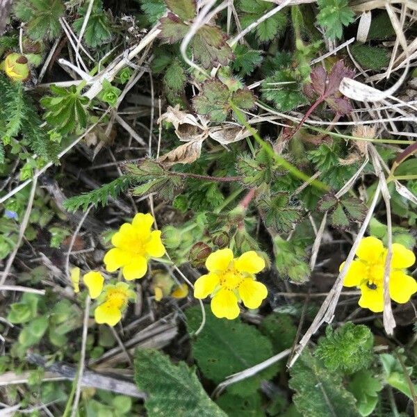
[[245, 398], [229, 392], [221, 395], [216, 401], [218, 406], [229, 417], [264, 417], [262, 398], [259, 393], [245, 396]]

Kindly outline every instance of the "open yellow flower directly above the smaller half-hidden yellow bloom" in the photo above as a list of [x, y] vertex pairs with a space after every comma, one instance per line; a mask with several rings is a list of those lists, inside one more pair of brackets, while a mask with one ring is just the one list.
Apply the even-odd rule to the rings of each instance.
[[151, 231], [153, 223], [152, 215], [138, 213], [131, 223], [122, 224], [111, 239], [115, 247], [104, 256], [108, 272], [123, 268], [125, 279], [142, 278], [147, 272], [148, 259], [165, 254], [161, 231]]

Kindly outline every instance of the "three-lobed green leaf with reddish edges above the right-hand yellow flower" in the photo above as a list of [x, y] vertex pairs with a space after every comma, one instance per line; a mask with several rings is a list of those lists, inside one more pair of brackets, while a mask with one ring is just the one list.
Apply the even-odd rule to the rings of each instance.
[[368, 208], [357, 197], [349, 195], [339, 199], [335, 195], [327, 194], [318, 202], [318, 210], [322, 213], [328, 211], [332, 226], [345, 230], [350, 222], [362, 222]]

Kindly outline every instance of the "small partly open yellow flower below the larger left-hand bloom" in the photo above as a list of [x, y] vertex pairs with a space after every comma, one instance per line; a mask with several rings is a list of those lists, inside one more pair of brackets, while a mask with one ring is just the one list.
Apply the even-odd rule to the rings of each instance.
[[94, 311], [96, 322], [99, 325], [106, 323], [115, 326], [122, 319], [122, 312], [126, 309], [129, 300], [134, 300], [135, 297], [135, 293], [125, 282], [106, 285], [99, 299], [102, 302]]

